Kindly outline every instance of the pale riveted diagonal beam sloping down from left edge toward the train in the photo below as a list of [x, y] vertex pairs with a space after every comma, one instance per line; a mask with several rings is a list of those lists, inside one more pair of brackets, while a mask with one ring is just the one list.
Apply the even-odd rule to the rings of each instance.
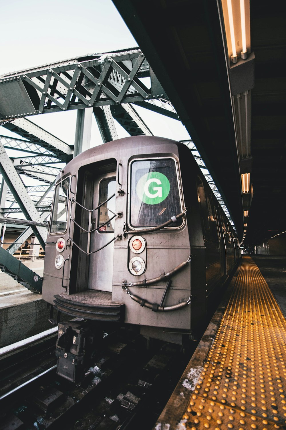
[[[10, 191], [12, 192], [16, 202], [18, 203], [27, 220], [40, 222], [39, 212], [37, 211], [32, 200], [30, 199], [30, 196], [27, 193], [23, 182], [21, 181], [21, 179], [19, 179], [18, 173], [16, 172], [12, 161], [9, 159], [8, 154], [6, 153], [1, 143], [0, 172], [3, 175], [4, 180], [6, 181], [8, 187], [10, 188]], [[45, 249], [45, 240], [47, 237], [46, 228], [39, 227], [36, 225], [33, 225], [32, 228], [42, 248]]]

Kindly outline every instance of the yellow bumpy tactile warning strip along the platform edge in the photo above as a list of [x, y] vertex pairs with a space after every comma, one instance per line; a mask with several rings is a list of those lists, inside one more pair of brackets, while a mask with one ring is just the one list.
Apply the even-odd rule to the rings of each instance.
[[216, 338], [178, 428], [286, 428], [286, 319], [243, 257]]

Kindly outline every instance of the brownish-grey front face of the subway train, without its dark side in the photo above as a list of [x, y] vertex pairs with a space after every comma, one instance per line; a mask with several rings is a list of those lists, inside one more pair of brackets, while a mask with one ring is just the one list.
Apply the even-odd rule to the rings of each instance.
[[55, 187], [42, 297], [93, 326], [181, 343], [191, 335], [185, 205], [173, 141], [136, 136], [75, 157]]

